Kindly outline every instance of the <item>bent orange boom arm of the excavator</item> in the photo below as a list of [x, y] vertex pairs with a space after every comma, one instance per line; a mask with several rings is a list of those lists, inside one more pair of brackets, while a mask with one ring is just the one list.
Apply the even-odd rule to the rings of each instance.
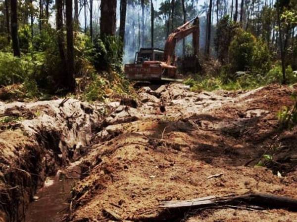
[[167, 38], [164, 49], [164, 62], [168, 66], [175, 66], [175, 46], [176, 43], [193, 34], [193, 48], [194, 55], [198, 55], [199, 51], [199, 18], [196, 17], [192, 21], [185, 23], [184, 25], [175, 29]]

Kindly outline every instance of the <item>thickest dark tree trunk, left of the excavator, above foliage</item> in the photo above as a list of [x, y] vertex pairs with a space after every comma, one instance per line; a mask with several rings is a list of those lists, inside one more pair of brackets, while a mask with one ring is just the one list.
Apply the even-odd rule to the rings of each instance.
[[101, 0], [100, 35], [114, 36], [116, 25], [116, 0]]

